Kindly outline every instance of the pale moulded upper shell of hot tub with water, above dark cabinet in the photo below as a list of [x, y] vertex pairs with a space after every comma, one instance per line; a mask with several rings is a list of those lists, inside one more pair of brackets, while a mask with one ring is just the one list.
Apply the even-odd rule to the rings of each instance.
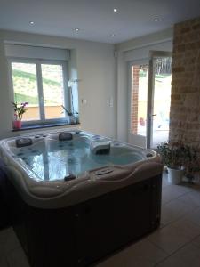
[[[155, 165], [152, 175], [161, 170], [154, 151], [83, 131], [68, 133], [72, 140], [60, 141], [59, 132], [29, 135], [32, 144], [20, 148], [19, 137], [0, 142], [12, 183], [29, 205], [69, 206], [145, 179], [139, 169], [144, 171], [147, 164]], [[108, 142], [109, 153], [93, 154], [91, 142]]]

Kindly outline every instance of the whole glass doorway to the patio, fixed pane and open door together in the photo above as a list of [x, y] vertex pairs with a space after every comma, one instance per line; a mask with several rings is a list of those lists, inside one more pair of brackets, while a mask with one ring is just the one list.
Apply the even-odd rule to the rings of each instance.
[[168, 140], [172, 53], [151, 52], [149, 61], [132, 62], [128, 142], [156, 149]]

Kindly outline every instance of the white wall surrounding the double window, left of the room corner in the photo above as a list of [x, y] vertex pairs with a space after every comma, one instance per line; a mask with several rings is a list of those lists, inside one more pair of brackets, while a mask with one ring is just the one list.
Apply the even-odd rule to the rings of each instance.
[[[116, 96], [114, 45], [0, 30], [0, 138], [16, 134], [12, 132], [12, 105], [4, 43], [73, 50], [71, 65], [76, 67], [77, 78], [81, 80], [78, 92], [82, 128], [115, 137], [115, 101], [113, 108], [109, 107], [109, 98], [115, 100]], [[86, 100], [86, 104], [82, 100]]]

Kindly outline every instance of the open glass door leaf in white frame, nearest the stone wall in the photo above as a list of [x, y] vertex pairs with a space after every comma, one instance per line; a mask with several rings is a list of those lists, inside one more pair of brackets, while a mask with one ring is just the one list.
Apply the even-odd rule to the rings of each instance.
[[171, 103], [172, 53], [154, 52], [149, 61], [147, 147], [168, 140]]

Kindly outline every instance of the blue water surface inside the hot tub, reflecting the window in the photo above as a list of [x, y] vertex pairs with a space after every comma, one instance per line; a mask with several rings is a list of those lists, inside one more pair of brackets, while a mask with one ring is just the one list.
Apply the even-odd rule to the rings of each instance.
[[43, 181], [63, 180], [68, 174], [83, 174], [85, 171], [106, 165], [125, 165], [142, 159], [140, 154], [110, 153], [93, 155], [85, 140], [65, 142], [38, 142], [34, 148], [17, 149], [15, 153]]

